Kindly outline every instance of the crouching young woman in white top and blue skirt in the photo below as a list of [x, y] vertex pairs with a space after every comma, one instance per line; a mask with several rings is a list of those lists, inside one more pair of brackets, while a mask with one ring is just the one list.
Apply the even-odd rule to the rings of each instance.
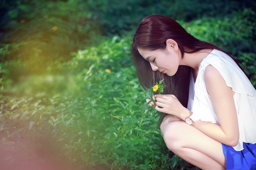
[[154, 97], [172, 152], [202, 169], [256, 169], [256, 91], [235, 59], [161, 15], [140, 22], [131, 52], [144, 89], [167, 85]]

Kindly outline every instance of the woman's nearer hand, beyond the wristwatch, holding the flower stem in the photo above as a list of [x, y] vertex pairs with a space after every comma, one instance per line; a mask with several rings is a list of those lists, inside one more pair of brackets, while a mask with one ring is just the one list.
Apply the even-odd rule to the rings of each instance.
[[180, 114], [186, 109], [174, 95], [155, 95], [155, 97], [157, 111], [180, 117]]

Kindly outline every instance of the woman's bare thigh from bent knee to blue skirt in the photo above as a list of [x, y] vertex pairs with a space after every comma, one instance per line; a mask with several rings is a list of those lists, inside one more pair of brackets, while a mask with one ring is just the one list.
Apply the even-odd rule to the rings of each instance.
[[226, 165], [221, 143], [208, 137], [196, 129], [196, 127], [186, 124], [184, 121], [166, 123], [162, 134], [170, 150], [179, 150], [182, 147], [195, 149], [214, 159], [220, 165]]

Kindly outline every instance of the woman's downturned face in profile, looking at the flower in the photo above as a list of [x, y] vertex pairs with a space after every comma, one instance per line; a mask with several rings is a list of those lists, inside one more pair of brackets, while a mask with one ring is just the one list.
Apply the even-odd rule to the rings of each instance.
[[148, 60], [153, 71], [159, 71], [169, 76], [174, 75], [180, 65], [179, 52], [166, 46], [165, 50], [145, 50], [138, 48], [140, 55]]

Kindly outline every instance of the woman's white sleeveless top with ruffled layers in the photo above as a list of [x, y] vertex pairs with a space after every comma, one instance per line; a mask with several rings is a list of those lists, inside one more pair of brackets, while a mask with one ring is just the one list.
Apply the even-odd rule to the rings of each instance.
[[226, 53], [214, 49], [200, 63], [196, 82], [193, 74], [189, 84], [188, 109], [193, 112], [193, 121], [219, 124], [211, 98], [206, 91], [204, 70], [208, 65], [216, 68], [228, 87], [235, 92], [234, 101], [239, 126], [239, 142], [233, 148], [243, 150], [243, 142], [256, 143], [256, 90], [236, 62]]

